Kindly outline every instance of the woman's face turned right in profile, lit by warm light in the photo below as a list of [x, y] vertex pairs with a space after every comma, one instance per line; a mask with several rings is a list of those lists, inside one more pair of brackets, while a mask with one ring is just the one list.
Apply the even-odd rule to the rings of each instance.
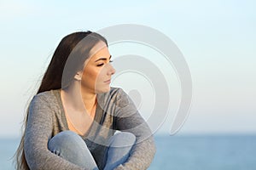
[[115, 73], [110, 64], [111, 55], [105, 42], [98, 42], [85, 60], [81, 88], [95, 94], [110, 90], [111, 77]]

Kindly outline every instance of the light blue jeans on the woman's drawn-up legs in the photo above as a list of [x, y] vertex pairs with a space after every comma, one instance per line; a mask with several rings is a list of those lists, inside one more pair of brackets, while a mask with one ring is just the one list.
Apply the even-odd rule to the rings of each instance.
[[[132, 133], [116, 133], [108, 140], [108, 150], [106, 150], [104, 160], [104, 170], [110, 170], [125, 163], [130, 156], [131, 148], [136, 142], [136, 137]], [[124, 146], [125, 147], [118, 147]], [[72, 131], [63, 131], [56, 134], [49, 140], [49, 150], [57, 156], [61, 156], [67, 161], [93, 170], [99, 169], [96, 161], [87, 148], [84, 140]]]

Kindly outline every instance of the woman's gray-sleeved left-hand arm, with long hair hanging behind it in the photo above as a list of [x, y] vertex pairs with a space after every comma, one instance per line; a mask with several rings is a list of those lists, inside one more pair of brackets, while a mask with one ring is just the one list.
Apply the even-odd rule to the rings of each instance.
[[48, 141], [52, 137], [52, 114], [49, 103], [43, 96], [36, 95], [29, 105], [26, 123], [24, 151], [28, 167], [36, 169], [74, 169], [81, 167], [56, 156], [48, 150]]

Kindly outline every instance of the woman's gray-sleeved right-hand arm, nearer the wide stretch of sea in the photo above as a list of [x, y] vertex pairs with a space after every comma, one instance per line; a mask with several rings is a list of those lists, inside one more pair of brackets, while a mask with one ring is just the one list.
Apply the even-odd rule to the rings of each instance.
[[131, 156], [120, 169], [147, 169], [154, 158], [155, 145], [153, 134], [147, 122], [140, 116], [136, 106], [122, 89], [116, 100], [116, 127], [117, 130], [135, 134], [137, 143], [131, 150]]

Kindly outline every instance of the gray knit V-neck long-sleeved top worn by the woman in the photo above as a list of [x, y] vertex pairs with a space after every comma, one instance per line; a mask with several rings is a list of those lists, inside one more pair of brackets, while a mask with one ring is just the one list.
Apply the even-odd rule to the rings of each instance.
[[[56, 89], [37, 94], [29, 105], [24, 150], [27, 164], [32, 170], [82, 169], [48, 150], [49, 139], [68, 130], [60, 92], [60, 89]], [[97, 94], [97, 102], [95, 121], [88, 133], [81, 137], [98, 167], [103, 168], [105, 142], [116, 130], [120, 130], [134, 133], [137, 144], [131, 150], [128, 161], [115, 169], [147, 169], [154, 158], [154, 139], [129, 96], [121, 88], [111, 88], [108, 93]]]

